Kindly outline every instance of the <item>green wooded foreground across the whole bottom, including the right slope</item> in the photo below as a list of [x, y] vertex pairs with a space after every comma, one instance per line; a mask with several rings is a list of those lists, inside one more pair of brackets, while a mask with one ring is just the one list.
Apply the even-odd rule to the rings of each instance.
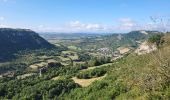
[[[41, 77], [35, 75], [24, 79], [6, 77], [0, 79], [0, 98], [169, 100], [170, 34], [161, 39], [164, 43], [160, 42], [157, 51], [146, 55], [132, 53], [115, 61], [113, 65], [103, 66], [102, 68], [106, 70], [105, 77], [87, 87], [81, 87], [72, 80], [79, 74], [81, 68], [56, 67], [49, 69]], [[84, 75], [90, 75], [89, 78], [96, 77], [92, 72], [88, 71]], [[58, 80], [52, 80], [58, 76], [60, 77]]]

